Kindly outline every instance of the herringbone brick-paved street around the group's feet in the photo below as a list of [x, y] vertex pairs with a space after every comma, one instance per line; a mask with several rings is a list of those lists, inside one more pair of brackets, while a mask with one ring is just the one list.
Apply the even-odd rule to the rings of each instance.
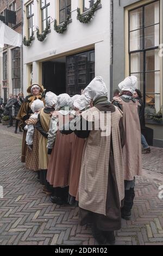
[[[96, 245], [90, 227], [78, 225], [78, 208], [58, 206], [42, 193], [36, 174], [21, 163], [21, 137], [0, 124], [1, 245]], [[143, 176], [136, 178], [131, 221], [122, 220], [116, 245], [162, 245], [163, 149], [143, 155]]]

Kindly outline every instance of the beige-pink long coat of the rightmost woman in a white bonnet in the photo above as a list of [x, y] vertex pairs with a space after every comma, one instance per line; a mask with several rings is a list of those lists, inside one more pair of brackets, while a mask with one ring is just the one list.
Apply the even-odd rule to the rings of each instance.
[[122, 105], [123, 126], [126, 143], [123, 147], [124, 180], [134, 180], [135, 175], [142, 174], [141, 128], [138, 114], [138, 101], [125, 102], [120, 97], [117, 100]]

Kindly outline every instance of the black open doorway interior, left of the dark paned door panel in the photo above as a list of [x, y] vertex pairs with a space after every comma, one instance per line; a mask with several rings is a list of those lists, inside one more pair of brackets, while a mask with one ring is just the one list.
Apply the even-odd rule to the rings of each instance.
[[49, 61], [42, 63], [42, 81], [46, 92], [57, 95], [66, 92], [66, 63]]

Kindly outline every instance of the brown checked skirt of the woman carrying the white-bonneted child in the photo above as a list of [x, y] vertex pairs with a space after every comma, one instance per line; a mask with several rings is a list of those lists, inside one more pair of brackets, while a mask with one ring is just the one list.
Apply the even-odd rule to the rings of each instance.
[[39, 137], [40, 133], [35, 129], [33, 136], [33, 149], [27, 148], [26, 168], [29, 170], [39, 170]]

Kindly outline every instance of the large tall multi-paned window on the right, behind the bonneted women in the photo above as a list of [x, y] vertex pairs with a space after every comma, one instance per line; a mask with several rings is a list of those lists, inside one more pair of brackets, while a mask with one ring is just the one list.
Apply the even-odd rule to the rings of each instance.
[[160, 1], [129, 11], [130, 75], [146, 106], [160, 110]]

